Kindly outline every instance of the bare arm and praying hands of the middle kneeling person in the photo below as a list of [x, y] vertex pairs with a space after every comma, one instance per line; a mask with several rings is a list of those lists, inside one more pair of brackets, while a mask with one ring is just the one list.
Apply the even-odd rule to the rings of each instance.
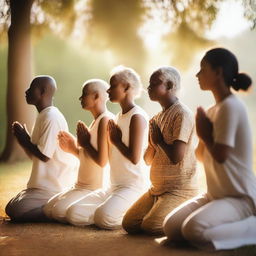
[[130, 122], [129, 145], [126, 146], [122, 142], [122, 133], [120, 128], [113, 122], [109, 121], [109, 133], [111, 142], [118, 150], [133, 164], [137, 164], [142, 153], [142, 143], [146, 120], [141, 115], [133, 115]]

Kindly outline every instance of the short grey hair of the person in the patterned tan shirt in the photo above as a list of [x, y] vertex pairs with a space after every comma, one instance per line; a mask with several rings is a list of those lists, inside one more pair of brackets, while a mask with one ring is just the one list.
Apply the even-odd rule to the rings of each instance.
[[157, 73], [164, 83], [171, 82], [173, 84], [171, 89], [173, 92], [180, 89], [180, 72], [176, 68], [163, 66], [154, 71], [154, 73]]

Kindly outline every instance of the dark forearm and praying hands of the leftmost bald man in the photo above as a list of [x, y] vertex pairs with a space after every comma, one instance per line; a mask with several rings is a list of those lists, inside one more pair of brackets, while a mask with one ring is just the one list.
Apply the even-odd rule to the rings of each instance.
[[19, 122], [14, 122], [12, 129], [14, 136], [30, 158], [35, 156], [43, 162], [47, 162], [50, 159], [38, 149], [37, 145], [31, 142], [30, 135], [27, 132], [25, 125], [22, 126]]

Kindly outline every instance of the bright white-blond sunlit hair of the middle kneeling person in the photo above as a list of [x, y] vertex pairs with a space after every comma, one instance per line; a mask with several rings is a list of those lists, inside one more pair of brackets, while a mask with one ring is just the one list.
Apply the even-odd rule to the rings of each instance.
[[134, 97], [140, 97], [142, 91], [142, 83], [140, 76], [134, 69], [120, 65], [113, 68], [110, 75], [111, 78], [115, 77], [115, 79], [117, 79], [120, 83], [129, 85], [132, 89]]

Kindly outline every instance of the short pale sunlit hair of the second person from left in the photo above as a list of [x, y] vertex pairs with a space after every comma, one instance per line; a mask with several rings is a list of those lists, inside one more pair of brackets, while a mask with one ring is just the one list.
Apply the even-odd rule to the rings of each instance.
[[109, 88], [109, 84], [101, 79], [90, 79], [84, 82], [82, 88], [87, 87], [91, 92], [95, 92], [99, 94], [99, 97], [103, 101], [108, 100], [107, 90]]

